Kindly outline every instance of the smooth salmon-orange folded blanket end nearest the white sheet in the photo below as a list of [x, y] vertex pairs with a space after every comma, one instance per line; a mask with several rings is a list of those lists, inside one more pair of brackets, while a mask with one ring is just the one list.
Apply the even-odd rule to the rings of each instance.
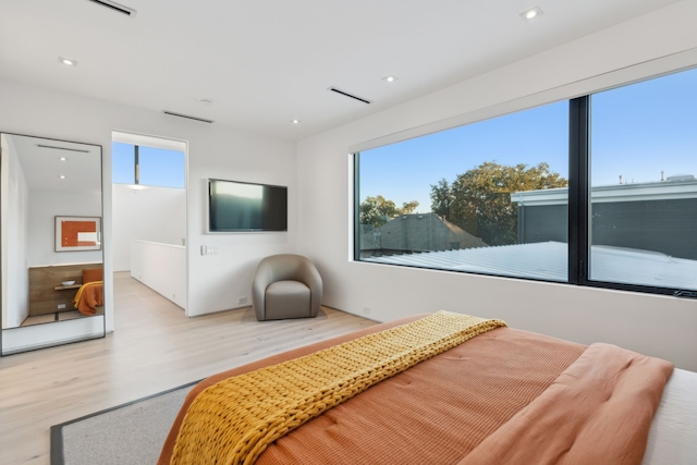
[[640, 464], [673, 366], [592, 344], [458, 465]]

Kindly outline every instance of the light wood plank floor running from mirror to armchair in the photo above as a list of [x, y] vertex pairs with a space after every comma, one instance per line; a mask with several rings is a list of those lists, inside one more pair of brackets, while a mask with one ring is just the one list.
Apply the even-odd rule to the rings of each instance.
[[186, 318], [114, 274], [115, 331], [0, 358], [0, 464], [49, 464], [49, 428], [268, 355], [375, 325], [322, 307], [317, 318], [262, 321], [252, 308]]

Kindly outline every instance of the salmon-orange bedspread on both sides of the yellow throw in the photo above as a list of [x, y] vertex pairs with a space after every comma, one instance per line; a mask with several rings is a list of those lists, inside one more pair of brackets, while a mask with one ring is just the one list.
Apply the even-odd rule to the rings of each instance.
[[[158, 463], [170, 463], [182, 418], [193, 399], [207, 386], [418, 317], [378, 325], [201, 381], [186, 399]], [[638, 464], [644, 454], [652, 413], [672, 366], [613, 347], [610, 352], [616, 348], [622, 354], [616, 359], [614, 355], [607, 356], [603, 347], [599, 346], [601, 350], [598, 352], [602, 354], [597, 358], [597, 350], [592, 346], [591, 350], [582, 344], [511, 328], [494, 329], [381, 381], [308, 421], [278, 439], [257, 464], [423, 465], [457, 464], [468, 458], [472, 463], [545, 463], [530, 449], [528, 441], [531, 440], [537, 441], [531, 442], [536, 446], [546, 441], [561, 442], [564, 449], [570, 449], [568, 454], [561, 454], [568, 457], [570, 462], [594, 463], [585, 460], [589, 453], [585, 444], [597, 443], [594, 454], [613, 460], [617, 456], [628, 457], [616, 463]], [[608, 360], [611, 362], [610, 367], [600, 368]], [[619, 372], [632, 372], [632, 376], [615, 376], [612, 366], [620, 367]], [[586, 378], [590, 379], [588, 383]], [[586, 386], [582, 389], [577, 381]], [[566, 400], [563, 397], [565, 394], [558, 397], [555, 391], [563, 391], [565, 386], [578, 387], [580, 393], [572, 394]], [[596, 402], [608, 394], [612, 402]], [[554, 399], [546, 400], [549, 395]], [[568, 402], [568, 399], [573, 402]], [[595, 401], [589, 402], [591, 399]], [[558, 421], [546, 432], [530, 430], [530, 436], [523, 441], [512, 440], [521, 431], [527, 433], [527, 426], [515, 426], [521, 417], [528, 423], [539, 424], [537, 426], [547, 425], [549, 418], [545, 415], [554, 416], [557, 406], [551, 411], [549, 407], [557, 405], [558, 400], [564, 407], [574, 406], [577, 411], [559, 413], [555, 418]], [[624, 400], [619, 403], [619, 409], [611, 405], [616, 403], [614, 400]], [[536, 412], [536, 404], [541, 405], [541, 412]], [[624, 416], [629, 405], [641, 414]], [[560, 425], [566, 425], [566, 419], [570, 420], [568, 427], [560, 428]], [[505, 433], [509, 428], [513, 432]], [[499, 431], [503, 436], [497, 439]], [[552, 439], [558, 435], [562, 436], [561, 439]], [[584, 445], [570, 448], [568, 439], [574, 437], [580, 438], [580, 444]], [[608, 441], [608, 437], [617, 440]], [[494, 441], [493, 445], [488, 445], [487, 441]], [[600, 448], [610, 451], [603, 452]], [[482, 455], [482, 452], [491, 449], [496, 453], [501, 452], [497, 452], [497, 449], [519, 449], [533, 452], [534, 458], [522, 455], [521, 462], [516, 462], [517, 458], [506, 462], [505, 458]], [[550, 449], [559, 453], [558, 446]], [[547, 452], [545, 454], [545, 457], [549, 456]]]

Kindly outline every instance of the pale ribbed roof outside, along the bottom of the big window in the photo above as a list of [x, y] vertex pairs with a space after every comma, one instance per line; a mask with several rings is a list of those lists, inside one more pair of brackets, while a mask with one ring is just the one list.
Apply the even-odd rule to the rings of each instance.
[[[560, 242], [368, 257], [364, 261], [566, 282], [567, 245]], [[592, 246], [595, 281], [697, 289], [697, 260], [621, 247]]]

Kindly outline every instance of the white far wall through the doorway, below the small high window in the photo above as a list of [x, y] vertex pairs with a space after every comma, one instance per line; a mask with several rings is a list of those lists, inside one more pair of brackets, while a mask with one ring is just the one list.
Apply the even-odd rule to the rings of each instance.
[[113, 184], [112, 199], [114, 271], [131, 270], [134, 240], [185, 245], [185, 189], [155, 186], [134, 189], [126, 184]]

